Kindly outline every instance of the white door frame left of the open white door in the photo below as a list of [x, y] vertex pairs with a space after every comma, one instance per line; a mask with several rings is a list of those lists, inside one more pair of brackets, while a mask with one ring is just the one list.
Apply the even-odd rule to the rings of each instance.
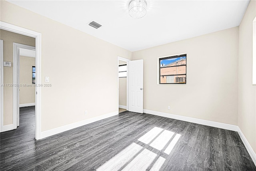
[[129, 111], [129, 59], [118, 56], [117, 57], [117, 111], [119, 111], [119, 60], [126, 62], [127, 77], [126, 77], [126, 110]]

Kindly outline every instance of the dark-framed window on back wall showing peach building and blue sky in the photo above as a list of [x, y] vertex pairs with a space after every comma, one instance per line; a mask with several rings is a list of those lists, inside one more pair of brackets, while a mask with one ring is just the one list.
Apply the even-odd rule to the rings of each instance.
[[186, 84], [187, 55], [159, 58], [159, 84]]

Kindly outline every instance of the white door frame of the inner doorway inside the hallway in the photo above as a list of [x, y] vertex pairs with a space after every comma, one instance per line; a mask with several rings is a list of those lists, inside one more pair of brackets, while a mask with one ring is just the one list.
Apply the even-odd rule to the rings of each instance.
[[[20, 48], [36, 50], [34, 46], [13, 43], [13, 84], [20, 85]], [[32, 84], [32, 83], [31, 83]], [[36, 92], [35, 92], [36, 94]], [[15, 114], [17, 113], [17, 114]], [[13, 116], [16, 120], [16, 127], [20, 125], [20, 91], [18, 86], [13, 87]], [[15, 118], [16, 117], [16, 118]]]

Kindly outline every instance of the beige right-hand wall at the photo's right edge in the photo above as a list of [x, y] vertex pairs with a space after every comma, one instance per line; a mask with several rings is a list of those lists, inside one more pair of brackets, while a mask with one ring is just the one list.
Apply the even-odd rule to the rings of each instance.
[[250, 4], [239, 26], [238, 126], [256, 152], [256, 85], [252, 85], [252, 21], [256, 2]]

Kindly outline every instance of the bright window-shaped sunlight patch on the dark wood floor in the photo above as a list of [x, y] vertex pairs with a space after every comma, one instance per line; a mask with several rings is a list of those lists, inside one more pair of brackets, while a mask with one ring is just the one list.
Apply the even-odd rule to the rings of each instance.
[[[145, 144], [144, 147], [132, 143], [96, 170], [118, 171], [123, 168], [122, 171], [144, 171], [148, 169], [150, 171], [158, 171], [166, 161], [161, 156], [162, 150], [169, 155], [180, 136], [178, 133], [175, 134], [172, 131], [154, 127], [138, 139], [138, 141]], [[150, 148], [148, 144], [151, 146]], [[152, 149], [152, 147], [158, 150], [159, 153], [156, 154], [150, 151], [149, 149]]]

